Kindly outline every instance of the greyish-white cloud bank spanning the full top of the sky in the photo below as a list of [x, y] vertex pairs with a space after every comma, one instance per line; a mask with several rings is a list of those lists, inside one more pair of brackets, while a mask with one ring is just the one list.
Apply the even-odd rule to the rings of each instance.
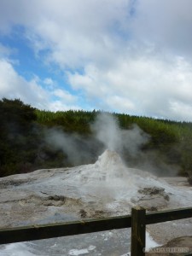
[[34, 50], [49, 49], [61, 67], [109, 66], [131, 45], [184, 54], [192, 43], [190, 0], [2, 0], [0, 8], [1, 32], [26, 27]]

